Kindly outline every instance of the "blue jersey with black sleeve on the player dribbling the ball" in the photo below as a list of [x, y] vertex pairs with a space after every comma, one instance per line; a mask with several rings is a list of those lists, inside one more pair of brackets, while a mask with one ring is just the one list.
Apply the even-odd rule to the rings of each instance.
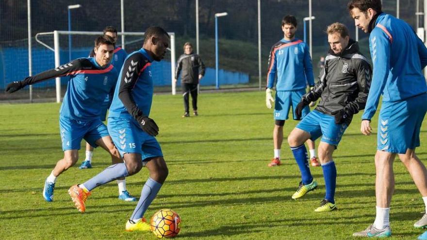
[[132, 52], [120, 71], [113, 102], [108, 117], [135, 120], [137, 116], [148, 116], [153, 99], [151, 63], [153, 58], [144, 48]]

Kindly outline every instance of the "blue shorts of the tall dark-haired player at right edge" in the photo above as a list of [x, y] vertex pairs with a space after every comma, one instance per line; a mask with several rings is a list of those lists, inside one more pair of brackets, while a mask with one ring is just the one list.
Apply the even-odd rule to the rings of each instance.
[[378, 117], [377, 149], [405, 154], [420, 146], [420, 128], [427, 112], [427, 94], [398, 102], [382, 102]]

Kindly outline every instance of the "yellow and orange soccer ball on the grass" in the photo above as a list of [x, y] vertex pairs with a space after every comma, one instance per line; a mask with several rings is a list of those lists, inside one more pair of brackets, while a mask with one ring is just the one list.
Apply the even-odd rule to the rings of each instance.
[[181, 230], [181, 218], [171, 209], [161, 209], [151, 217], [150, 225], [159, 239], [173, 238]]

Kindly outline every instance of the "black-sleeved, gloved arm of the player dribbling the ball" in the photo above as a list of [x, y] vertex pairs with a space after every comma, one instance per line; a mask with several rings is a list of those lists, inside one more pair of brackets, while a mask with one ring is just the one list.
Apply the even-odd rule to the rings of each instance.
[[151, 136], [159, 134], [159, 127], [153, 119], [145, 115], [136, 105], [131, 92], [139, 78], [139, 75], [148, 67], [150, 63], [143, 57], [142, 53], [135, 53], [129, 57], [122, 68], [122, 76], [120, 80], [120, 87], [118, 97], [122, 101], [126, 110], [131, 114], [139, 126]]

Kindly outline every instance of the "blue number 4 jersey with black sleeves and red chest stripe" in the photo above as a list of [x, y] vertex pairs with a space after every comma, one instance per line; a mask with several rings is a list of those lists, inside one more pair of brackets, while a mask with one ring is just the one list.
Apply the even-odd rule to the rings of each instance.
[[79, 58], [24, 80], [26, 85], [70, 76], [60, 115], [79, 121], [99, 119], [102, 102], [114, 91], [117, 71], [112, 64], [100, 67], [94, 58]]

